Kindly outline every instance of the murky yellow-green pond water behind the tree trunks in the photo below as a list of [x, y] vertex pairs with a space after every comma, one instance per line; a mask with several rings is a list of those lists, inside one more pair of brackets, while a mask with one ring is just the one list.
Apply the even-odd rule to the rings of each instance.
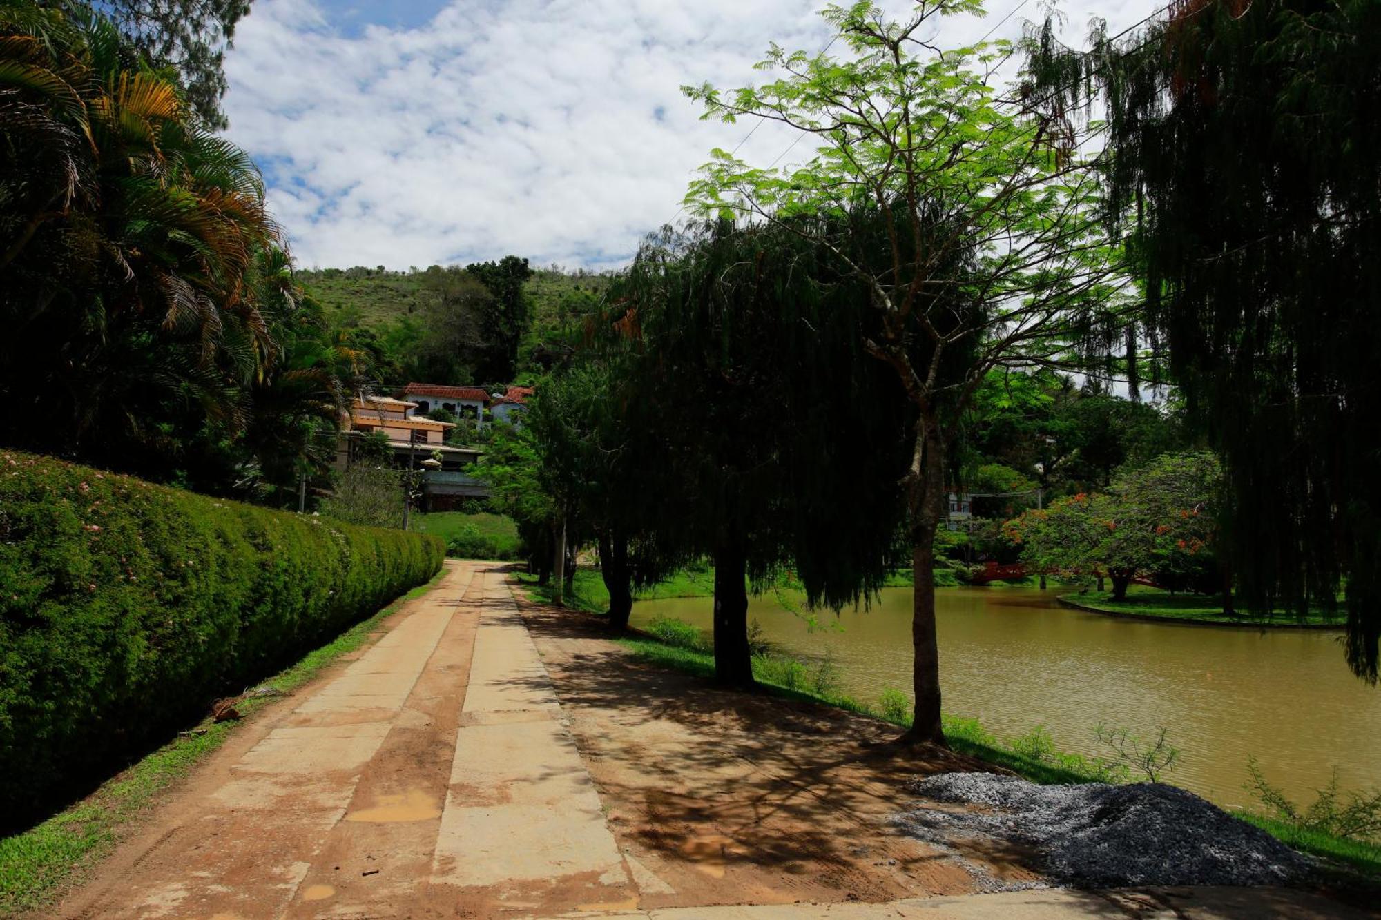
[[[945, 711], [1000, 738], [1043, 724], [1061, 747], [1097, 754], [1098, 722], [1166, 725], [1182, 750], [1170, 779], [1226, 805], [1250, 801], [1248, 754], [1297, 800], [1312, 801], [1334, 765], [1344, 787], [1381, 786], [1381, 689], [1348, 673], [1335, 633], [1121, 620], [1051, 591], [938, 594]], [[710, 612], [710, 598], [639, 601], [632, 622], [663, 613], [708, 630]], [[772, 595], [749, 615], [784, 651], [830, 656], [851, 696], [910, 688], [910, 588], [885, 590], [871, 611], [822, 612], [815, 631]]]

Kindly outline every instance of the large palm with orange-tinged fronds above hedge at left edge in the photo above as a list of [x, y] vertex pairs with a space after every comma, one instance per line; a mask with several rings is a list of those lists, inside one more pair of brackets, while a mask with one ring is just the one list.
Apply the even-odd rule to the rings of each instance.
[[33, 420], [10, 439], [141, 467], [233, 432], [273, 349], [243, 283], [278, 240], [253, 163], [106, 21], [11, 4], [0, 32], [0, 392]]

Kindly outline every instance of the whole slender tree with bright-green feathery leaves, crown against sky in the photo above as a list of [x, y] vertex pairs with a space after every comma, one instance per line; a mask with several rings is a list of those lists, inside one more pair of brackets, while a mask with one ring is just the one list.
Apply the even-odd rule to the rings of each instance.
[[[801, 167], [757, 169], [714, 151], [686, 204], [794, 229], [831, 253], [869, 291], [878, 325], [869, 351], [914, 408], [906, 492], [916, 717], [906, 738], [918, 742], [943, 740], [935, 530], [963, 409], [994, 367], [1103, 356], [1128, 307], [1092, 209], [1084, 138], [1004, 104], [989, 75], [1010, 43], [934, 48], [928, 23], [961, 12], [982, 6], [940, 0], [905, 21], [873, 3], [830, 6], [830, 48], [842, 55], [773, 46], [760, 69], [776, 79], [685, 90], [706, 117], [780, 122], [815, 141]], [[1052, 133], [1055, 149], [1043, 142]], [[800, 217], [818, 222], [797, 227]], [[885, 246], [866, 245], [880, 235]]]

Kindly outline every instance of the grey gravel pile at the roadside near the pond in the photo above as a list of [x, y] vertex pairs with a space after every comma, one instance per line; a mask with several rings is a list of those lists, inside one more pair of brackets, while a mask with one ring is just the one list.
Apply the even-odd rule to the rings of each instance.
[[990, 837], [1040, 854], [1048, 877], [1080, 885], [1288, 884], [1309, 863], [1268, 833], [1193, 793], [1160, 783], [1037, 786], [996, 774], [940, 774], [909, 783], [939, 803], [896, 815], [906, 833], [945, 845]]

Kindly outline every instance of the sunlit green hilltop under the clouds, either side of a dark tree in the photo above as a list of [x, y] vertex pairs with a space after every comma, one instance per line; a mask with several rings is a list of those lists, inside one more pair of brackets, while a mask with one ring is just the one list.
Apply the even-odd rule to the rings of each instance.
[[[326, 308], [336, 329], [383, 332], [405, 316], [420, 318], [439, 298], [438, 267], [405, 272], [383, 267], [298, 269], [297, 279]], [[540, 327], [559, 315], [562, 298], [570, 294], [598, 294], [609, 283], [608, 274], [584, 269], [539, 268], [523, 285], [533, 325]]]

